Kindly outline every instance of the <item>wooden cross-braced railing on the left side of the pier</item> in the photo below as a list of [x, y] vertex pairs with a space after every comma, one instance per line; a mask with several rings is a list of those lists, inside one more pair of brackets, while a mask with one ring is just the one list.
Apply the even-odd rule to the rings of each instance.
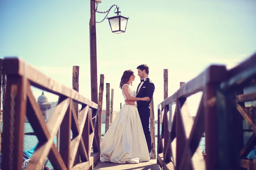
[[[25, 116], [38, 138], [38, 148], [26, 169], [41, 170], [47, 157], [55, 170], [87, 170], [99, 162], [97, 104], [75, 90], [50, 79], [18, 58], [3, 59], [3, 74], [7, 76], [3, 108], [3, 170], [21, 169]], [[47, 124], [32, 94], [31, 85], [59, 96], [58, 104]], [[74, 102], [81, 105], [78, 118]], [[59, 150], [53, 143], [58, 130]], [[80, 155], [80, 162], [75, 162], [77, 152]]]

